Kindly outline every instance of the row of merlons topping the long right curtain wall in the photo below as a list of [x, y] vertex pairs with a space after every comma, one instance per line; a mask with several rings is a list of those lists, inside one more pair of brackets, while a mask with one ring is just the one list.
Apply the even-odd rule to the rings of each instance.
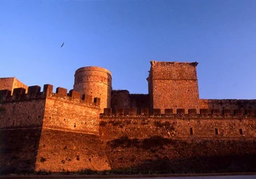
[[150, 113], [149, 108], [104, 108], [104, 113], [100, 114], [101, 118], [104, 117], [168, 117], [168, 118], [209, 118], [209, 117], [256, 117], [256, 111], [243, 110], [243, 109], [200, 109], [197, 113], [197, 109], [188, 109], [188, 113], [185, 113], [184, 108], [178, 108], [176, 110], [172, 108], [164, 109], [164, 113], [161, 113], [161, 109], [154, 108]]

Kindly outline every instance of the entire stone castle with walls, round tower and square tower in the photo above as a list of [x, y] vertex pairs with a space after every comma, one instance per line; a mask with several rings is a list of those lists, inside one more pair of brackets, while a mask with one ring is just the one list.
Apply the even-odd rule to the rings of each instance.
[[199, 99], [197, 62], [150, 63], [148, 94], [96, 66], [69, 92], [0, 78], [0, 172], [256, 171], [256, 100]]

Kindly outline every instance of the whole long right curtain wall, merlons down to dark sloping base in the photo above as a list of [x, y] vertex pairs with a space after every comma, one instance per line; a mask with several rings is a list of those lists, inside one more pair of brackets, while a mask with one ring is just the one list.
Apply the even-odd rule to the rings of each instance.
[[[160, 173], [255, 171], [253, 110], [105, 109], [99, 134], [111, 169]], [[113, 113], [112, 113], [113, 112]]]

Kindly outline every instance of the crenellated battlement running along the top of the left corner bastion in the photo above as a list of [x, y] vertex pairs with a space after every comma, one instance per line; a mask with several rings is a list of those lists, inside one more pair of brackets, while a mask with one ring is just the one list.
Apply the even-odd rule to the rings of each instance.
[[76, 92], [75, 90], [68, 90], [63, 87], [57, 87], [56, 92], [52, 92], [52, 85], [44, 85], [43, 91], [41, 92], [41, 87], [38, 85], [29, 86], [28, 92], [26, 93], [26, 89], [19, 87], [13, 90], [13, 94], [11, 94], [10, 90], [0, 90], [0, 102], [14, 102], [14, 101], [24, 101], [31, 99], [45, 99], [46, 97], [55, 97], [59, 99], [69, 100], [76, 103], [89, 104], [90, 106], [99, 107], [100, 98], [93, 98], [90, 95], [83, 94], [80, 92]]

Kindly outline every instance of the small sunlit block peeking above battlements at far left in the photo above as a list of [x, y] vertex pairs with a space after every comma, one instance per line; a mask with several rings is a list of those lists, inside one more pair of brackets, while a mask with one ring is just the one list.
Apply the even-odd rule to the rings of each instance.
[[10, 90], [11, 94], [13, 94], [13, 89], [23, 87], [27, 92], [27, 85], [17, 80], [17, 78], [0, 78], [0, 90]]

